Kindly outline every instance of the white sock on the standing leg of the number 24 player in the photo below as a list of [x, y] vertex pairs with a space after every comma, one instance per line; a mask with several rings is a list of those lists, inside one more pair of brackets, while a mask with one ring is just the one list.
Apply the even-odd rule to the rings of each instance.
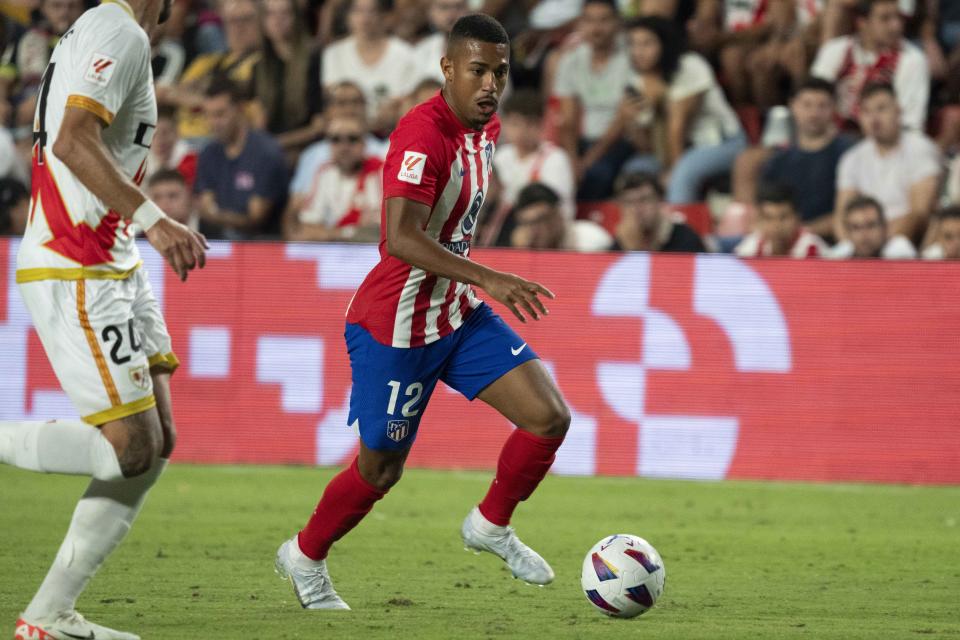
[[24, 612], [28, 619], [74, 608], [87, 582], [127, 535], [147, 492], [166, 466], [166, 460], [157, 458], [149, 471], [135, 478], [90, 481], [53, 566]]

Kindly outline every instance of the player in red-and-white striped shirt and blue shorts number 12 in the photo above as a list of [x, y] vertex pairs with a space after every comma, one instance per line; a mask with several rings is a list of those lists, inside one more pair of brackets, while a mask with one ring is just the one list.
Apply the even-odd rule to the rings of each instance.
[[546, 315], [539, 296], [553, 294], [467, 258], [500, 134], [496, 111], [509, 47], [493, 18], [459, 19], [440, 62], [443, 89], [390, 137], [381, 260], [347, 312], [348, 421], [359, 430], [360, 453], [327, 485], [306, 527], [277, 551], [277, 571], [293, 582], [304, 608], [349, 608], [330, 582], [327, 552], [400, 479], [438, 380], [519, 427], [500, 453], [489, 492], [463, 521], [464, 544], [499, 556], [526, 582], [553, 580], [550, 565], [507, 525], [553, 463], [570, 411], [533, 349], [473, 287], [520, 321]]

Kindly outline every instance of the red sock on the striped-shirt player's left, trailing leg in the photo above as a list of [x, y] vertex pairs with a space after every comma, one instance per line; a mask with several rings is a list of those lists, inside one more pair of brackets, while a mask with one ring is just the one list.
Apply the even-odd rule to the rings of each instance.
[[357, 526], [387, 493], [363, 479], [357, 460], [354, 458], [349, 468], [330, 481], [310, 521], [300, 532], [300, 550], [311, 560], [326, 558], [330, 545]]

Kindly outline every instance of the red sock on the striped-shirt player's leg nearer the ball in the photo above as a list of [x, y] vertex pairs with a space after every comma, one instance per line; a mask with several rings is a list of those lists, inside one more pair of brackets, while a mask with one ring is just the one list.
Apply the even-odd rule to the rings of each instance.
[[541, 438], [516, 429], [503, 445], [497, 475], [490, 485], [480, 513], [493, 524], [505, 527], [517, 504], [526, 500], [550, 470], [563, 438]]

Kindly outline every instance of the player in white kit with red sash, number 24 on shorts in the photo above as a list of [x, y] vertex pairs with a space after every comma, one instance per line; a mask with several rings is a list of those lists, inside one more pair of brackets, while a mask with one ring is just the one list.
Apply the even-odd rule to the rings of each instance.
[[169, 9], [170, 0], [104, 0], [63, 35], [39, 89], [17, 282], [82, 421], [0, 422], [0, 462], [91, 480], [16, 638], [138, 638], [93, 624], [74, 606], [174, 445], [177, 359], [139, 268], [135, 228], [181, 279], [204, 263], [203, 237], [139, 189], [157, 123], [148, 31]]

